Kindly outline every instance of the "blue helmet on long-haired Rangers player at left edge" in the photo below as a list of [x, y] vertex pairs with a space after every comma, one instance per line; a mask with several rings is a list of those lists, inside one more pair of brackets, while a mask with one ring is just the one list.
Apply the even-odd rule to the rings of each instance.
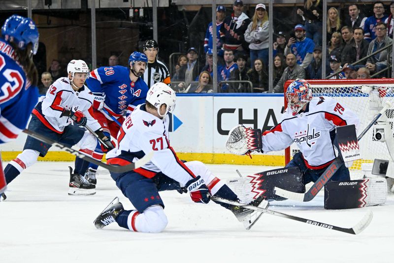
[[38, 50], [38, 30], [30, 18], [19, 15], [12, 15], [5, 20], [1, 27], [1, 36], [10, 42], [14, 42], [20, 49], [25, 49], [32, 43], [32, 53], [35, 55]]

